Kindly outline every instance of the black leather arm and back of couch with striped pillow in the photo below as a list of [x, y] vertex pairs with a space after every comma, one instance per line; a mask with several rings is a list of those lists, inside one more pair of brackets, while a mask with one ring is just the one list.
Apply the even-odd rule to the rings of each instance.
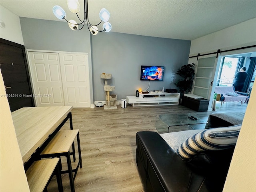
[[157, 133], [137, 132], [136, 162], [145, 192], [221, 192], [234, 148], [184, 162]]

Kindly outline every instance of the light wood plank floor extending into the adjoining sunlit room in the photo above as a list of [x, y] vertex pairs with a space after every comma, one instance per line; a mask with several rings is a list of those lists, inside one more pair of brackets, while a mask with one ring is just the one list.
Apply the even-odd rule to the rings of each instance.
[[[135, 160], [136, 132], [157, 132], [155, 121], [158, 114], [195, 112], [207, 120], [211, 113], [245, 111], [247, 104], [241, 106], [239, 102], [227, 102], [220, 108], [220, 102], [217, 102], [216, 106], [219, 108], [213, 112], [196, 112], [181, 105], [127, 105], [127, 108], [118, 105], [117, 110], [103, 110], [103, 107], [73, 109], [73, 127], [80, 132], [83, 164], [74, 182], [76, 192], [143, 192]], [[69, 129], [69, 122], [62, 129]], [[62, 164], [65, 168], [65, 159]], [[62, 182], [64, 191], [70, 191], [68, 174], [62, 175]], [[58, 191], [55, 178], [48, 191]]]

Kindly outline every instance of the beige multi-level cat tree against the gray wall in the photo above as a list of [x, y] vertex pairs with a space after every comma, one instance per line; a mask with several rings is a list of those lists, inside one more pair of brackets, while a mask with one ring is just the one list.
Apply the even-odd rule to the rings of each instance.
[[[116, 86], [108, 85], [108, 79], [111, 79], [112, 75], [102, 73], [102, 74], [100, 74], [100, 78], [105, 79], [104, 91], [105, 91], [106, 104], [104, 105], [104, 110], [117, 109], [117, 106], [116, 106], [117, 95], [110, 94], [111, 91], [114, 91], [116, 89]], [[110, 106], [110, 102], [113, 102], [113, 106]]]

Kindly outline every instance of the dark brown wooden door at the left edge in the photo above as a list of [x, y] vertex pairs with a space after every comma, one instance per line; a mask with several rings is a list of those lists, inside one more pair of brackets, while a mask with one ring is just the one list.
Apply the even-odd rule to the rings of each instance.
[[34, 107], [25, 47], [0, 39], [0, 67], [11, 112]]

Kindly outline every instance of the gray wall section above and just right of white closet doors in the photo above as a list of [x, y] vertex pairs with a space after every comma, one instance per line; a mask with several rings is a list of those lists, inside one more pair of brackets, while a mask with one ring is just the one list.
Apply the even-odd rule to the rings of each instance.
[[91, 40], [87, 26], [80, 31], [72, 31], [67, 22], [32, 18], [20, 18], [20, 25], [26, 49], [88, 53], [93, 104]]

